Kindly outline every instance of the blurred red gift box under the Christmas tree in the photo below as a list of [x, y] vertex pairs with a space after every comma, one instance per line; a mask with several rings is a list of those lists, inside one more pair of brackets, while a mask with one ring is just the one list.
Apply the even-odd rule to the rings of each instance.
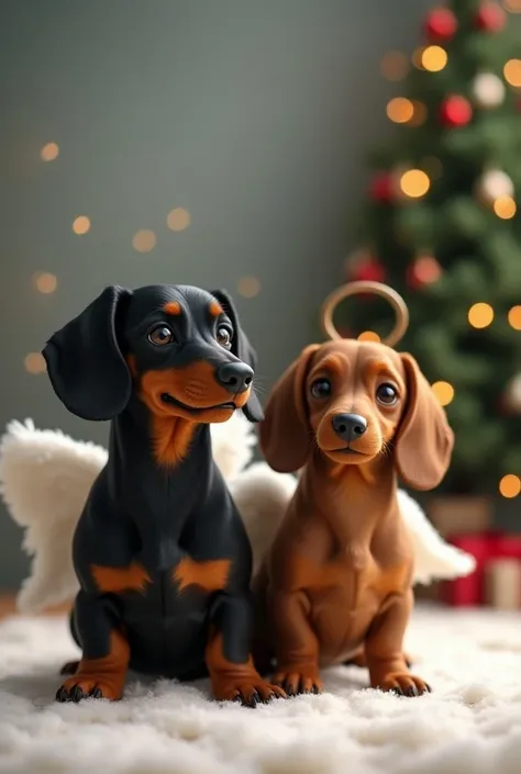
[[442, 601], [453, 607], [475, 607], [485, 603], [488, 561], [505, 558], [521, 560], [521, 535], [479, 532], [453, 535], [446, 539], [476, 559], [476, 570], [470, 575], [441, 584]]

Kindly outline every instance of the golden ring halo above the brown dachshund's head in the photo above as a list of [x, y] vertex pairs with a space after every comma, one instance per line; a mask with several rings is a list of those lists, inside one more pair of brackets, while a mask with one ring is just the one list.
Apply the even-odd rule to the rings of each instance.
[[347, 299], [350, 295], [357, 295], [358, 293], [373, 293], [374, 295], [379, 295], [388, 301], [395, 310], [395, 327], [390, 334], [383, 339], [383, 344], [387, 344], [388, 347], [393, 347], [403, 338], [409, 326], [409, 310], [407, 309], [407, 304], [401, 295], [383, 282], [373, 282], [372, 280], [348, 282], [347, 284], [344, 284], [330, 293], [322, 304], [322, 330], [332, 339], [343, 338], [333, 324], [334, 311], [341, 301]]

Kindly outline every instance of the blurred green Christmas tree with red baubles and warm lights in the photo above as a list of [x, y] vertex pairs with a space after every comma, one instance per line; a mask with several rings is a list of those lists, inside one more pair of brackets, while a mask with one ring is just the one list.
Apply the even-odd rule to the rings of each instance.
[[[372, 178], [344, 280], [401, 293], [411, 351], [456, 434], [452, 492], [521, 490], [521, 31], [503, 7], [432, 9]], [[388, 55], [384, 72], [403, 76]], [[517, 200], [518, 197], [518, 200]], [[518, 201], [518, 204], [517, 204]], [[391, 312], [350, 299], [345, 333], [385, 337]]]

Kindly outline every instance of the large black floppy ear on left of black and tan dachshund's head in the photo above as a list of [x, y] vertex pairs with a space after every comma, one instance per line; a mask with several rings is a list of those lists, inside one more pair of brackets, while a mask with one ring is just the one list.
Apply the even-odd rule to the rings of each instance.
[[131, 291], [110, 287], [47, 341], [43, 356], [55, 393], [82, 419], [112, 419], [126, 406], [132, 379], [117, 336]]

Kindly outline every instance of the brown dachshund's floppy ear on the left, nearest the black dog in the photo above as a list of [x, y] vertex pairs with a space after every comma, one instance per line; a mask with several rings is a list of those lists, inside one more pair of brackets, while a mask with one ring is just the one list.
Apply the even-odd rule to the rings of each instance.
[[319, 349], [311, 344], [280, 377], [269, 395], [266, 417], [260, 423], [260, 449], [267, 463], [279, 473], [302, 468], [312, 446], [304, 383], [311, 357]]

